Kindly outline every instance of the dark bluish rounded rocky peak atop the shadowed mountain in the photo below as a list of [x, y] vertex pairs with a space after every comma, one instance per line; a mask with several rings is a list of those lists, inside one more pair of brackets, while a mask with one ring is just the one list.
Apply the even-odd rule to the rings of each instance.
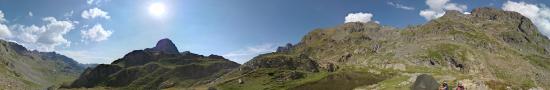
[[174, 43], [172, 43], [172, 40], [165, 38], [161, 39], [157, 42], [157, 45], [150, 49], [151, 51], [157, 51], [157, 52], [164, 52], [164, 53], [170, 53], [170, 54], [177, 54], [179, 53], [178, 48]]

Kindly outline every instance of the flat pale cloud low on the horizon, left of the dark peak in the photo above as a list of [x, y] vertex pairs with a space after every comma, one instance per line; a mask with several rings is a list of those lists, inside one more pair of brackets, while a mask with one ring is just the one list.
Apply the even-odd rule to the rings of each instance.
[[113, 58], [96, 55], [89, 51], [62, 50], [59, 53], [76, 60], [79, 63], [110, 63]]

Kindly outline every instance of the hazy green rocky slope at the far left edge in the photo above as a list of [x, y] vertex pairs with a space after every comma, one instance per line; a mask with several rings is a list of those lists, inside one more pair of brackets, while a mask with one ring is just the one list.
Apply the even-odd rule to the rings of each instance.
[[46, 89], [75, 79], [84, 66], [55, 52], [0, 40], [0, 89]]

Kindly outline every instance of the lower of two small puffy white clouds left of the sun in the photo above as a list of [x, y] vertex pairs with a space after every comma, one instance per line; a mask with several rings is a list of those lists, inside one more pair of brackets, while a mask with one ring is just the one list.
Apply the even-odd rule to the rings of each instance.
[[107, 40], [107, 38], [109, 38], [111, 34], [113, 34], [113, 32], [103, 29], [103, 26], [101, 26], [101, 24], [96, 24], [88, 30], [81, 31], [83, 39], [95, 42]]

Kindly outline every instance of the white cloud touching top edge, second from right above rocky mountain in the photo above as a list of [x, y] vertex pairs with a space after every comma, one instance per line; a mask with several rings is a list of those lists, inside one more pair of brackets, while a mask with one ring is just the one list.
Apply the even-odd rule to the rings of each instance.
[[426, 20], [432, 20], [445, 15], [445, 10], [457, 10], [464, 12], [468, 7], [456, 3], [449, 3], [449, 0], [426, 0], [429, 9], [420, 11], [419, 15]]

